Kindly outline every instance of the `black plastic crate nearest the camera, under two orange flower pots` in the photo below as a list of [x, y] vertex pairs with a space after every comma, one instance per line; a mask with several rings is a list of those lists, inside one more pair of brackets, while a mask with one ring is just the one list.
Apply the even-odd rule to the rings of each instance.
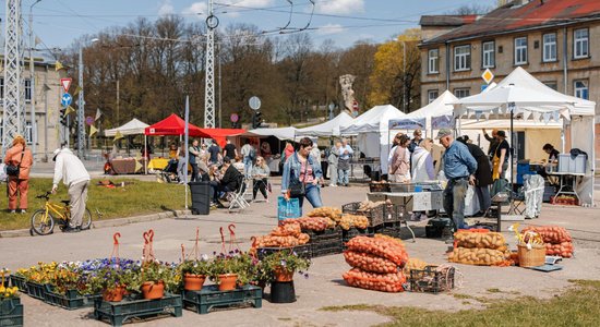
[[165, 292], [163, 299], [143, 300], [136, 298], [123, 299], [121, 302], [104, 301], [101, 296], [94, 301], [94, 317], [97, 320], [107, 319], [112, 326], [122, 326], [133, 318], [145, 318], [158, 315], [181, 317], [181, 295]]

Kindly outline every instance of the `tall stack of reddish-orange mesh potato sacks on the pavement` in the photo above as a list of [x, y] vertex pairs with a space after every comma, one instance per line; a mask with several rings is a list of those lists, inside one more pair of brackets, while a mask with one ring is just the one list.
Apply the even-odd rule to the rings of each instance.
[[405, 290], [403, 267], [408, 254], [400, 240], [381, 234], [356, 237], [346, 246], [344, 257], [352, 268], [343, 277], [349, 286], [382, 292]]

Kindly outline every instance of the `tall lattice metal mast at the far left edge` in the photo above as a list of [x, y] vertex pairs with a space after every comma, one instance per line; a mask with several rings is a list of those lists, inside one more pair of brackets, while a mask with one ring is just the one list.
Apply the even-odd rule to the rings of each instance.
[[14, 136], [25, 130], [21, 0], [7, 0], [5, 3], [2, 158]]

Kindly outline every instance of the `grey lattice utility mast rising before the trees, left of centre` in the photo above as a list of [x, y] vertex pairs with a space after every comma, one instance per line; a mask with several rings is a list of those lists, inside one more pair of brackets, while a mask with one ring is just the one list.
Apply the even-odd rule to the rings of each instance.
[[206, 81], [204, 87], [204, 128], [215, 128], [215, 29], [219, 20], [213, 14], [213, 0], [208, 1], [206, 19]]

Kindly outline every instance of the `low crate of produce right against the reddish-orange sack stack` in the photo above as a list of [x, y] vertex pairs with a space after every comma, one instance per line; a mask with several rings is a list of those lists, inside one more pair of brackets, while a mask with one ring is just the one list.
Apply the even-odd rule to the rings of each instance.
[[447, 272], [436, 271], [437, 266], [425, 266], [424, 269], [410, 270], [410, 291], [440, 293], [454, 289], [454, 267]]

